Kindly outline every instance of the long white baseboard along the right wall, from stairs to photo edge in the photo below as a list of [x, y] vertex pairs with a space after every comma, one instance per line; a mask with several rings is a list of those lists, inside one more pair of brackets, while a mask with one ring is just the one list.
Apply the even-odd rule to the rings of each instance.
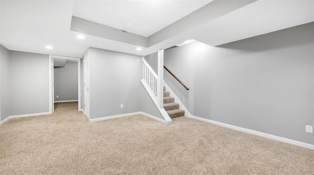
[[204, 121], [204, 122], [208, 122], [208, 123], [211, 123], [211, 124], [223, 126], [223, 127], [226, 127], [226, 128], [231, 128], [231, 129], [234, 129], [234, 130], [243, 131], [243, 132], [251, 133], [251, 134], [254, 134], [254, 135], [259, 135], [259, 136], [262, 136], [262, 137], [266, 137], [266, 138], [270, 138], [270, 139], [274, 139], [274, 140], [278, 140], [278, 141], [282, 141], [282, 142], [286, 142], [286, 143], [289, 143], [289, 144], [293, 144], [293, 145], [297, 145], [297, 146], [301, 146], [301, 147], [305, 147], [305, 148], [309, 148], [309, 149], [314, 150], [314, 145], [312, 145], [312, 144], [308, 144], [308, 143], [304, 143], [304, 142], [300, 142], [300, 141], [296, 141], [296, 140], [291, 140], [291, 139], [288, 139], [288, 138], [279, 137], [279, 136], [271, 135], [271, 134], [268, 134], [268, 133], [263, 133], [263, 132], [259, 132], [259, 131], [249, 130], [249, 129], [245, 129], [245, 128], [241, 128], [241, 127], [237, 127], [237, 126], [234, 126], [234, 125], [229, 125], [229, 124], [225, 124], [225, 123], [221, 123], [221, 122], [216, 122], [216, 121], [213, 121], [213, 120], [209, 120], [209, 119], [205, 119], [205, 118], [201, 118], [201, 117], [196, 117], [196, 116], [193, 116], [193, 115], [192, 115], [192, 118], [194, 118], [196, 120], [201, 120], [201, 121]]

